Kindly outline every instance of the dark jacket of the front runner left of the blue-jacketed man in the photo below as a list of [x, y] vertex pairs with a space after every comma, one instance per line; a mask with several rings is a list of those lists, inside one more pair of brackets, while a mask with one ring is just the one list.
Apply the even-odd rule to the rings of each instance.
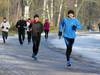
[[40, 36], [43, 32], [43, 24], [41, 22], [32, 23], [32, 36]]

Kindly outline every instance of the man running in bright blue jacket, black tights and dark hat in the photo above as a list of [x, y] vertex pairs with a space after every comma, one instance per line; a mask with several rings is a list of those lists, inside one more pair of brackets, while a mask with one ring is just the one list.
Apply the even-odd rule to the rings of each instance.
[[59, 25], [58, 36], [61, 38], [62, 33], [66, 43], [66, 58], [67, 66], [71, 66], [70, 55], [72, 52], [72, 46], [76, 37], [76, 30], [81, 29], [80, 22], [74, 17], [74, 11], [68, 11], [68, 17], [63, 18]]

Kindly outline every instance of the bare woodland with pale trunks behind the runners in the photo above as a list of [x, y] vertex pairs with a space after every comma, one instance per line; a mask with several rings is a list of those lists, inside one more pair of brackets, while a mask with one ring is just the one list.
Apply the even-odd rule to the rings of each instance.
[[49, 18], [53, 26], [58, 26], [67, 11], [73, 9], [76, 17], [86, 29], [100, 22], [100, 0], [0, 0], [0, 20], [7, 17], [12, 24], [25, 15], [25, 6], [29, 6], [29, 17], [39, 14], [41, 19]]

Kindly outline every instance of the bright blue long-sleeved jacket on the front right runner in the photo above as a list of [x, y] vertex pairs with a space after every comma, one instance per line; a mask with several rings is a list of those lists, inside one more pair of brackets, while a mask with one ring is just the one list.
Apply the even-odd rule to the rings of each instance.
[[59, 31], [63, 32], [63, 37], [75, 38], [76, 31], [72, 29], [72, 26], [76, 26], [76, 29], [81, 29], [80, 22], [76, 18], [64, 18], [59, 25]]

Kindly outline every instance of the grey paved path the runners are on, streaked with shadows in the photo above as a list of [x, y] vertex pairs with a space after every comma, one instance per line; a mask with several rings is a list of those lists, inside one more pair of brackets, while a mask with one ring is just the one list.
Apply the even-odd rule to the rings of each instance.
[[64, 54], [48, 48], [42, 38], [38, 60], [31, 58], [32, 44], [25, 41], [20, 46], [17, 37], [10, 37], [7, 44], [0, 41], [0, 75], [100, 75], [100, 65], [72, 59], [66, 68]]

